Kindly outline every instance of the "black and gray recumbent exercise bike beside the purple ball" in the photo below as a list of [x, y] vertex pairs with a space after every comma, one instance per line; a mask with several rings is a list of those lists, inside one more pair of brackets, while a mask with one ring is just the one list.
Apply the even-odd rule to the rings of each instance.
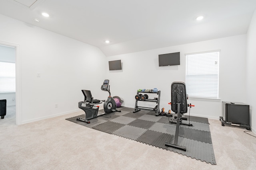
[[[84, 101], [78, 102], [78, 107], [85, 112], [85, 118], [78, 117], [76, 120], [90, 123], [89, 121], [90, 119], [93, 119], [95, 117], [99, 117], [108, 113], [112, 113], [115, 111], [119, 111], [116, 109], [116, 102], [114, 98], [111, 97], [111, 94], [110, 94], [109, 80], [104, 80], [103, 85], [101, 86], [101, 90], [109, 92], [109, 96], [107, 100], [93, 99], [90, 90], [82, 90], [82, 93], [84, 94]], [[95, 106], [95, 105], [101, 104], [102, 102], [104, 102], [103, 108], [105, 113], [98, 114], [99, 106]]]

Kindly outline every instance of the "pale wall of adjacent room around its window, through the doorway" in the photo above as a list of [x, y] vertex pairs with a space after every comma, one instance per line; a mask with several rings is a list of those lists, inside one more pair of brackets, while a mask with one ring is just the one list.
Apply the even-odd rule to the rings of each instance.
[[[0, 45], [0, 62], [15, 63], [14, 47]], [[7, 106], [14, 106], [16, 104], [15, 98], [15, 93], [0, 93], [0, 100], [6, 99]]]

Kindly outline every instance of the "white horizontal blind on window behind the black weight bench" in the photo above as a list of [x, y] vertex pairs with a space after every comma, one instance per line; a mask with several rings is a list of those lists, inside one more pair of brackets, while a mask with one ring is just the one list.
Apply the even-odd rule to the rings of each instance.
[[220, 51], [186, 54], [186, 92], [194, 98], [218, 99]]

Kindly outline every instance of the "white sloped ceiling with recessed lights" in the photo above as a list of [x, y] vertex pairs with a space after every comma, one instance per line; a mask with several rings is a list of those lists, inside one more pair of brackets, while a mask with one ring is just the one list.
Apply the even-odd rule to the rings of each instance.
[[[0, 0], [0, 14], [106, 56], [245, 34], [255, 9], [256, 0]], [[204, 20], [196, 21], [200, 15]]]

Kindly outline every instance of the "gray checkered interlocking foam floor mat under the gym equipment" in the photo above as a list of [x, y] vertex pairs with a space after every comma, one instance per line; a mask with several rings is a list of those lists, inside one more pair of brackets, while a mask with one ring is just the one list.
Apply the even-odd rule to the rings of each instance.
[[[98, 131], [177, 152], [202, 162], [216, 164], [207, 118], [190, 116], [189, 121], [182, 121], [193, 125], [180, 125], [178, 145], [186, 147], [186, 151], [184, 151], [165, 146], [166, 142], [174, 142], [176, 123], [169, 122], [174, 117], [155, 116], [154, 111], [144, 110], [133, 113], [134, 109], [127, 107], [121, 107], [118, 110], [121, 112], [108, 113], [90, 119], [89, 124], [76, 120], [77, 117], [84, 118], [85, 114], [66, 120]], [[188, 115], [183, 115], [183, 117], [188, 118]]]

